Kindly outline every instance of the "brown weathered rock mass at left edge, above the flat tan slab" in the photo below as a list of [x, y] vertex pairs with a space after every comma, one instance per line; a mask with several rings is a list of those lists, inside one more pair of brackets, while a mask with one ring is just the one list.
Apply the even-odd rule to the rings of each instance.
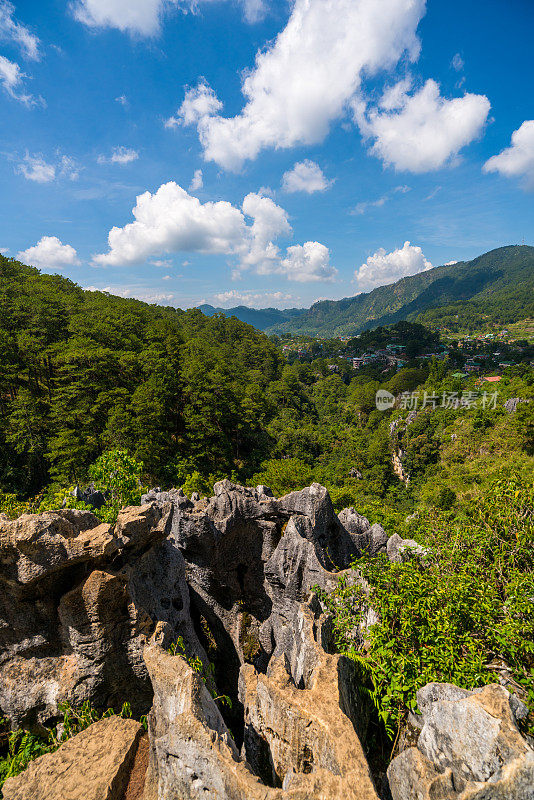
[[[148, 710], [146, 638], [157, 621], [180, 621], [160, 604], [154, 567], [172, 511], [125, 509], [115, 526], [71, 509], [0, 523], [0, 708], [13, 727], [39, 727], [65, 700]], [[184, 574], [182, 561], [188, 599]], [[189, 615], [182, 627], [191, 639]]]

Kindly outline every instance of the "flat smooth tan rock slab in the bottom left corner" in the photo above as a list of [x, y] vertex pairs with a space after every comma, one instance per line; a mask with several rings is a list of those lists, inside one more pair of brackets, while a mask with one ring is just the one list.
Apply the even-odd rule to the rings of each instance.
[[8, 778], [4, 800], [122, 800], [142, 734], [133, 719], [95, 722]]

